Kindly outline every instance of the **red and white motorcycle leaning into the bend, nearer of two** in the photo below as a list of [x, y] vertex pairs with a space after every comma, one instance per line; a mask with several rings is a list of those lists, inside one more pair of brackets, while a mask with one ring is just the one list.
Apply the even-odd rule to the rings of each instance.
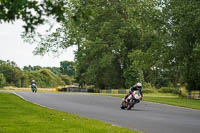
[[133, 91], [126, 99], [122, 99], [121, 109], [130, 110], [136, 103], [139, 103], [142, 96], [139, 91]]

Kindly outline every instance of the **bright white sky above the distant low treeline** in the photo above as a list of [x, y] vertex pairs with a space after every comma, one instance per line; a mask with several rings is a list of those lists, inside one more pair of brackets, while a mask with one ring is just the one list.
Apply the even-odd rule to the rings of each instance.
[[59, 57], [49, 54], [45, 56], [34, 56], [32, 51], [35, 45], [23, 42], [22, 22], [0, 24], [0, 60], [11, 60], [19, 67], [27, 65], [59, 66], [60, 61], [73, 61], [75, 47], [63, 51]]

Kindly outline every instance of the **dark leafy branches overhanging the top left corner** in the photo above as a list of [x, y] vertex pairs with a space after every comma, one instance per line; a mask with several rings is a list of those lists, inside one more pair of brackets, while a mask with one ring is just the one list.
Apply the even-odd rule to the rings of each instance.
[[63, 0], [1, 0], [0, 22], [13, 22], [21, 19], [26, 33], [33, 31], [36, 26], [44, 24], [46, 16], [54, 16], [57, 21], [64, 19]]

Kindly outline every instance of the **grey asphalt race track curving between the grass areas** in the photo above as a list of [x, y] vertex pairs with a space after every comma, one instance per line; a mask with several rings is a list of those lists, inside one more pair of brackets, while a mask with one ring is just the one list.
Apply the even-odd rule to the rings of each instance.
[[200, 111], [141, 102], [121, 110], [121, 99], [72, 93], [16, 92], [24, 99], [56, 110], [105, 121], [144, 133], [200, 133]]

